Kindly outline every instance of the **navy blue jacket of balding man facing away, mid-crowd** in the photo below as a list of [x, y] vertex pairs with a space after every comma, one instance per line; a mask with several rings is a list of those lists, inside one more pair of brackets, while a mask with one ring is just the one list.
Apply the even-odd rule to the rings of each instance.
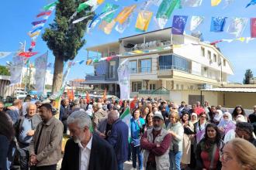
[[112, 124], [108, 141], [114, 148], [118, 164], [126, 162], [128, 159], [128, 129], [127, 124], [120, 119]]

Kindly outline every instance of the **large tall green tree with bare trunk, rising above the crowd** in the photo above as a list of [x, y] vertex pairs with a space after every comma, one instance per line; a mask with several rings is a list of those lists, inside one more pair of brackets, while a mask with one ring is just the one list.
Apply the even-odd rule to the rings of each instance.
[[[51, 49], [55, 56], [54, 63], [54, 80], [52, 92], [61, 90], [64, 61], [74, 59], [78, 50], [85, 44], [86, 25], [88, 19], [82, 22], [72, 24], [68, 21], [74, 14], [81, 0], [61, 0], [56, 6], [54, 23], [50, 24], [50, 28], [43, 33], [43, 40], [47, 42], [47, 46]], [[90, 8], [88, 8], [90, 10]], [[85, 15], [93, 15], [89, 11], [79, 12], [74, 19], [79, 19]]]

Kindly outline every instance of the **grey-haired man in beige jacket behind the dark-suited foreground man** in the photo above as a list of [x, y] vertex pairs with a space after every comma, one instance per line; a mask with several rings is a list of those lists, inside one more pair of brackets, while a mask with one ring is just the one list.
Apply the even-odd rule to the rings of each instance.
[[102, 121], [102, 119], [106, 118], [108, 114], [105, 110], [102, 109], [102, 104], [100, 103], [98, 104], [94, 103], [92, 106], [92, 109], [94, 110], [92, 125], [93, 125], [93, 129], [95, 130], [99, 122]]

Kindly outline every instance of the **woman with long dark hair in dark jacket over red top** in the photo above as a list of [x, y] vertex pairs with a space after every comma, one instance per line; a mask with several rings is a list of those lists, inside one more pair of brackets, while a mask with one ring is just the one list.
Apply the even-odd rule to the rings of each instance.
[[196, 169], [221, 169], [220, 151], [224, 146], [216, 124], [207, 124], [204, 138], [196, 146]]

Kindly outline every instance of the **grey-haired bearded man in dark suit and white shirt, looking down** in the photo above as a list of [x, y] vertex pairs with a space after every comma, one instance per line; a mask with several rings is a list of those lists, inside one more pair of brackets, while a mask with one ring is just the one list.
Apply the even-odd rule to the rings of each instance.
[[117, 169], [112, 146], [92, 134], [92, 121], [85, 111], [74, 111], [67, 118], [67, 126], [72, 138], [67, 141], [61, 170]]

